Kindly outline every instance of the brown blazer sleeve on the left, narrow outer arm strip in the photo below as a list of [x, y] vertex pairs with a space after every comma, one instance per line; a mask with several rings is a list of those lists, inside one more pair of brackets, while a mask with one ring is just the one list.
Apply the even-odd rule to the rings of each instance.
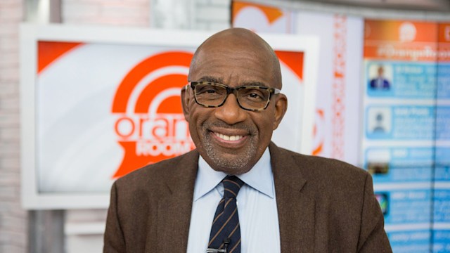
[[103, 238], [103, 253], [124, 253], [125, 240], [120, 227], [120, 219], [117, 212], [117, 185], [113, 183], [111, 188], [110, 207], [106, 218], [105, 235]]

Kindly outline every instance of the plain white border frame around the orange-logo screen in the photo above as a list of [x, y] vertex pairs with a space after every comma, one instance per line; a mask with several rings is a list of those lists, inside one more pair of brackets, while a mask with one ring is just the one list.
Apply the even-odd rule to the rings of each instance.
[[[39, 193], [36, 168], [37, 41], [75, 41], [155, 46], [198, 47], [213, 32], [153, 30], [136, 27], [79, 25], [20, 25], [20, 166], [22, 205], [25, 209], [104, 209], [109, 194]], [[275, 50], [304, 52], [304, 118], [302, 143], [295, 151], [311, 154], [319, 39], [285, 34], [259, 34]], [[183, 38], [181, 41], [180, 38]], [[32, 106], [30, 106], [32, 105]]]

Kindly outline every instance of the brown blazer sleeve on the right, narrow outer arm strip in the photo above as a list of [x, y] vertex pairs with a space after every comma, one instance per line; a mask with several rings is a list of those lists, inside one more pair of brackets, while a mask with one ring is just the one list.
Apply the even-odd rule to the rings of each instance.
[[373, 193], [372, 177], [367, 174], [364, 186], [358, 252], [392, 252], [384, 226], [383, 213]]

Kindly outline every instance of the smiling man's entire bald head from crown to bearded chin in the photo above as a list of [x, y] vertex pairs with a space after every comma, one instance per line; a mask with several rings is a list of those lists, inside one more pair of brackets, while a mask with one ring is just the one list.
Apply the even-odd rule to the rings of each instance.
[[[224, 30], [195, 51], [188, 79], [216, 83], [198, 89], [191, 84], [192, 89], [181, 90], [184, 117], [198, 153], [216, 171], [234, 175], [248, 172], [266, 150], [288, 108], [283, 93], [265, 89], [281, 89], [280, 63], [274, 50], [254, 32], [241, 28]], [[233, 93], [224, 94], [218, 88], [223, 87], [221, 84], [252, 89], [233, 89]], [[272, 95], [267, 96], [262, 90]], [[221, 95], [225, 95], [225, 100], [217, 106], [205, 106], [196, 97], [217, 101]], [[266, 98], [262, 110], [245, 109], [240, 101], [250, 104]]]

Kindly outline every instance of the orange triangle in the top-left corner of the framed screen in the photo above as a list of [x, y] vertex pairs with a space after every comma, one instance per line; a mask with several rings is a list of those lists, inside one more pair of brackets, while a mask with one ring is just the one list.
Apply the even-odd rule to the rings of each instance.
[[37, 42], [37, 73], [39, 74], [56, 59], [68, 53], [73, 48], [82, 45], [79, 42], [38, 41]]

